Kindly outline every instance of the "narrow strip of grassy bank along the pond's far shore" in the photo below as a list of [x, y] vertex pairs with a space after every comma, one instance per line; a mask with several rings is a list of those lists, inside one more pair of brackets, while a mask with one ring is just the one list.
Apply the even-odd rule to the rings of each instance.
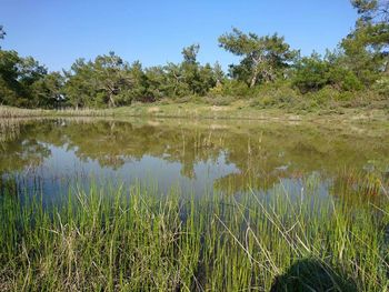
[[0, 118], [28, 117], [147, 117], [147, 118], [189, 118], [189, 119], [236, 119], [266, 121], [388, 121], [388, 109], [337, 108], [337, 109], [259, 109], [248, 101], [236, 101], [229, 105], [206, 103], [134, 103], [116, 109], [82, 110], [27, 110], [0, 107]]

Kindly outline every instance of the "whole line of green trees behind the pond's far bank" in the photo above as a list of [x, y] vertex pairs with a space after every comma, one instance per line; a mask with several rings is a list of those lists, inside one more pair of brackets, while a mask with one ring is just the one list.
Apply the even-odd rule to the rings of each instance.
[[[261, 88], [287, 87], [311, 97], [323, 89], [370, 90], [389, 97], [389, 1], [352, 0], [359, 18], [335, 51], [302, 57], [283, 37], [258, 36], [233, 28], [219, 37], [220, 48], [240, 57], [223, 72], [201, 64], [199, 44], [182, 49], [182, 61], [143, 68], [114, 52], [78, 59], [70, 70], [49, 72], [31, 57], [0, 47], [0, 104], [24, 108], [104, 108], [134, 101], [183, 97], [252, 97]], [[6, 37], [0, 26], [0, 39]]]

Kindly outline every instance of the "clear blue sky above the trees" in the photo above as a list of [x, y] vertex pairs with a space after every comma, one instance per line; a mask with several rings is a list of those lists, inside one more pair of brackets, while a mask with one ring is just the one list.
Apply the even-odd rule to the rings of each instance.
[[356, 19], [349, 0], [0, 0], [0, 44], [61, 70], [109, 51], [146, 67], [180, 62], [182, 48], [199, 43], [200, 62], [226, 69], [238, 59], [218, 37], [233, 27], [278, 32], [310, 54], [336, 49]]

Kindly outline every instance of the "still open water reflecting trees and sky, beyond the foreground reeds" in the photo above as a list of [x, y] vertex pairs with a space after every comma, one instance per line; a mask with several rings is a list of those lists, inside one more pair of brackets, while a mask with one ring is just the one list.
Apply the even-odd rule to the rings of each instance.
[[389, 131], [375, 124], [56, 119], [0, 130], [2, 183], [39, 180], [50, 198], [91, 178], [201, 195], [300, 188], [315, 177], [330, 195], [345, 173], [389, 177]]

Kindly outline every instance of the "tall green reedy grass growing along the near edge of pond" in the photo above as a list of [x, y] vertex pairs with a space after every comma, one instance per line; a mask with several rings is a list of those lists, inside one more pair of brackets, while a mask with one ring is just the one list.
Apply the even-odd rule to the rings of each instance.
[[322, 200], [312, 178], [298, 193], [276, 184], [201, 198], [91, 182], [49, 207], [11, 180], [0, 197], [0, 290], [388, 291], [387, 199], [356, 183]]

